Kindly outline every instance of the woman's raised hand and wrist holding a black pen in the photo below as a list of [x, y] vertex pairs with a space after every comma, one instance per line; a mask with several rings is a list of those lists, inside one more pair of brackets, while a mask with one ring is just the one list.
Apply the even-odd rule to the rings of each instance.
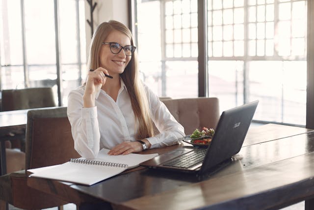
[[106, 83], [105, 74], [108, 74], [108, 71], [102, 67], [88, 72], [83, 95], [83, 106], [85, 108], [95, 106], [95, 95]]

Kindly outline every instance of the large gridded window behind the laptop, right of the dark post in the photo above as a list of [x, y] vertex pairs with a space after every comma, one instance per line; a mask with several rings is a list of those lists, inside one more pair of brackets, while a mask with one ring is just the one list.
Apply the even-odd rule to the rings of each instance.
[[209, 95], [259, 99], [256, 120], [305, 124], [305, 0], [208, 0]]

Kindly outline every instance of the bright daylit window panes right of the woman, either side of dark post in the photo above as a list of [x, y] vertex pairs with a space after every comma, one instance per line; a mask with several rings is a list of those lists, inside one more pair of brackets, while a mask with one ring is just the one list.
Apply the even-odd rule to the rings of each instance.
[[[198, 25], [197, 5], [137, 1], [140, 70], [160, 96], [198, 96], [197, 28], [206, 26]], [[221, 111], [259, 99], [254, 120], [305, 125], [307, 1], [207, 5], [209, 97], [219, 98]]]

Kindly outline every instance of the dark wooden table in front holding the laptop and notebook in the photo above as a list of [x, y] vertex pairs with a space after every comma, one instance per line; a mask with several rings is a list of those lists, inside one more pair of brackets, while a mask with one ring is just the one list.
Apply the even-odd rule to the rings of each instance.
[[[181, 146], [186, 145], [143, 153]], [[306, 208], [314, 208], [314, 130], [276, 124], [252, 128], [239, 153], [243, 159], [202, 181], [138, 167], [92, 186], [32, 177], [27, 184], [80, 207], [97, 201], [121, 210], [263, 210], [306, 200]]]

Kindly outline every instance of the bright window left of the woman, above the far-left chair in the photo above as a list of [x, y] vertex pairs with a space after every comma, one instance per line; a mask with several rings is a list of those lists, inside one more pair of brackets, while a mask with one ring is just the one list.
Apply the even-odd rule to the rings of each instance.
[[0, 11], [0, 89], [53, 87], [66, 106], [86, 68], [84, 0], [0, 0]]

